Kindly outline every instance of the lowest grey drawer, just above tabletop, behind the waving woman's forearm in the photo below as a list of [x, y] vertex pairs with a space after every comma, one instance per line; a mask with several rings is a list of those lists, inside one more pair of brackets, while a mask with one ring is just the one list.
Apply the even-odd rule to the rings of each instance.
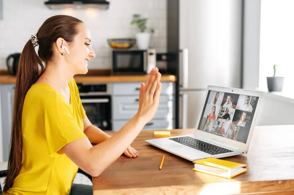
[[[123, 121], [113, 121], [113, 131], [119, 131], [128, 122], [128, 120]], [[172, 130], [174, 127], [174, 120], [156, 120], [152, 119], [149, 121], [143, 130]]]

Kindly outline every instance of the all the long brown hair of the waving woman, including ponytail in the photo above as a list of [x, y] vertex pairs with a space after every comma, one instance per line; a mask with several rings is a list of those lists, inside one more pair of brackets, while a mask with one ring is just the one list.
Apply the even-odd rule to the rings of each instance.
[[52, 16], [42, 24], [37, 32], [38, 55], [30, 40], [25, 44], [16, 75], [8, 171], [3, 188], [4, 192], [12, 187], [14, 179], [21, 169], [23, 156], [22, 112], [25, 95], [28, 89], [44, 73], [46, 63], [52, 59], [53, 44], [56, 43], [56, 40], [61, 37], [67, 43], [72, 43], [74, 36], [78, 33], [76, 25], [80, 23], [83, 22], [72, 16]]

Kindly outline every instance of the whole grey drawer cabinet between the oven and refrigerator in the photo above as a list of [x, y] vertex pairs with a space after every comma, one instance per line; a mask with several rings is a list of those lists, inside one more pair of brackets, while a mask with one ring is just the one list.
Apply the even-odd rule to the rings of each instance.
[[[140, 83], [114, 83], [112, 96], [113, 130], [120, 130], [138, 111]], [[171, 130], [175, 127], [174, 83], [162, 82], [159, 106], [143, 130]]]

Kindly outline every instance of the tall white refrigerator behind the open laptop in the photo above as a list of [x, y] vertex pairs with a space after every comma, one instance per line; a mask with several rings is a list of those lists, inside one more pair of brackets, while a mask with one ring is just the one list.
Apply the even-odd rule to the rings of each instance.
[[195, 128], [208, 85], [241, 87], [242, 0], [179, 0], [179, 128]]

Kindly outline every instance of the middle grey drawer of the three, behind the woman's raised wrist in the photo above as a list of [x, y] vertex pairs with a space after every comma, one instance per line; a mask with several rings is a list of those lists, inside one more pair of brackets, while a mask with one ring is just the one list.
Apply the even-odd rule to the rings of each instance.
[[[139, 96], [113, 97], [112, 118], [131, 119], [138, 111]], [[161, 95], [153, 118], [172, 119], [173, 96]]]

